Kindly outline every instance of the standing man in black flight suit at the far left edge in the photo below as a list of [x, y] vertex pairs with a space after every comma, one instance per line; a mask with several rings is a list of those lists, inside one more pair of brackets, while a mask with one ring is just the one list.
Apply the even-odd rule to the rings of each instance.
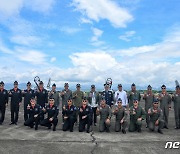
[[0, 125], [4, 122], [6, 106], [8, 105], [8, 91], [4, 89], [4, 82], [0, 82]]

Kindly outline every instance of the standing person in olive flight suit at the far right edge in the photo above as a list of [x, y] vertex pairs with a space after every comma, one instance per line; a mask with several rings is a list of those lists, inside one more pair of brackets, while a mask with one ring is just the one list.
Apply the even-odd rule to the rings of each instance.
[[176, 92], [172, 97], [174, 102], [175, 129], [180, 129], [180, 86], [176, 86]]

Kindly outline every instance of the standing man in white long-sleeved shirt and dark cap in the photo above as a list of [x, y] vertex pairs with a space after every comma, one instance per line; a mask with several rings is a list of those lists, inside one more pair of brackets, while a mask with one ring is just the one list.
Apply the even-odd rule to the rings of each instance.
[[116, 104], [118, 105], [118, 99], [122, 100], [122, 106], [123, 107], [128, 107], [128, 99], [127, 99], [127, 93], [122, 89], [122, 84], [118, 84], [118, 90], [115, 92], [114, 95]]

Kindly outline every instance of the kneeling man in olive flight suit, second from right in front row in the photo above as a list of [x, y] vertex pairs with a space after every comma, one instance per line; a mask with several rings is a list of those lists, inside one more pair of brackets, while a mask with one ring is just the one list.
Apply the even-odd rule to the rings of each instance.
[[129, 109], [129, 114], [130, 114], [129, 132], [134, 132], [134, 131], [141, 132], [142, 120], [145, 119], [146, 112], [139, 105], [137, 99], [134, 99], [133, 106], [131, 106]]

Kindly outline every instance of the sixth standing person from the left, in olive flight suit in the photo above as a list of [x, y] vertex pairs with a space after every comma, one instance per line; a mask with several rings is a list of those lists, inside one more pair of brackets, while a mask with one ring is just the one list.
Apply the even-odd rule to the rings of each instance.
[[67, 101], [70, 98], [72, 98], [72, 91], [69, 89], [69, 84], [68, 83], [64, 84], [64, 89], [62, 90], [60, 95], [62, 97], [62, 107], [63, 107], [64, 105], [67, 105]]

